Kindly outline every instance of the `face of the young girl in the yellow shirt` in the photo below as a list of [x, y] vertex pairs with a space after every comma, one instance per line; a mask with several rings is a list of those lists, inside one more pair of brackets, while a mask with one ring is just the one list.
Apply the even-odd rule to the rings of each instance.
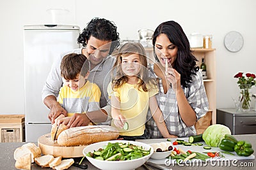
[[138, 53], [132, 53], [127, 57], [122, 57], [122, 71], [127, 76], [138, 76], [141, 69], [141, 60]]

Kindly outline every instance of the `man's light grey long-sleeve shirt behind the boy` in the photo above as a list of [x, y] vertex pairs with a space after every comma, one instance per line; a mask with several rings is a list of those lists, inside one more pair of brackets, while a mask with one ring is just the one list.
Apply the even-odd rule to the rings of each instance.
[[[51, 71], [47, 76], [44, 88], [42, 90], [42, 100], [44, 101], [45, 97], [54, 95], [58, 97], [60, 88], [63, 84], [61, 74], [60, 74], [60, 64], [61, 60], [68, 53], [82, 53], [83, 48], [77, 48], [70, 52], [63, 53], [58, 57], [58, 59], [52, 64]], [[111, 120], [111, 106], [109, 104], [108, 97], [108, 84], [111, 81], [111, 69], [115, 64], [115, 57], [108, 55], [105, 59], [102, 60], [100, 64], [94, 67], [89, 74], [88, 80], [92, 83], [96, 83], [101, 92], [100, 96], [100, 108], [104, 109], [108, 113], [108, 120], [106, 124], [110, 124]]]

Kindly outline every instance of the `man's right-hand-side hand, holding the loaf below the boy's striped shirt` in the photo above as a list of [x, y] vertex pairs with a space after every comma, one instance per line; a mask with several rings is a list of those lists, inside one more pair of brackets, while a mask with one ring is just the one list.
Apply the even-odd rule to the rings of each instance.
[[84, 126], [90, 123], [90, 119], [85, 113], [75, 113], [69, 120], [67, 127]]

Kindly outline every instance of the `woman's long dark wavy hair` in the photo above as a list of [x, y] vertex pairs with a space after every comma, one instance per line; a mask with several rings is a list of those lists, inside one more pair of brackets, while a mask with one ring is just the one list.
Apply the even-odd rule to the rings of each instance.
[[[191, 83], [191, 74], [195, 74], [198, 71], [196, 66], [196, 57], [192, 54], [190, 50], [190, 45], [186, 34], [184, 33], [182, 27], [174, 21], [167, 21], [160, 24], [153, 34], [153, 45], [156, 45], [156, 38], [160, 34], [166, 34], [170, 42], [177, 46], [177, 59], [174, 62], [173, 68], [180, 73], [180, 84], [183, 87], [188, 87]], [[157, 59], [155, 48], [154, 48], [155, 59]]]

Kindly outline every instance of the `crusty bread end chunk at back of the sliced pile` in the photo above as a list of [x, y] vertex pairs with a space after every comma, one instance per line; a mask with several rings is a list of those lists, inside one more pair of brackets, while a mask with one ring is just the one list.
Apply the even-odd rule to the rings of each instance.
[[18, 160], [20, 157], [23, 157], [26, 154], [31, 155], [31, 162], [34, 162], [36, 157], [40, 157], [41, 149], [35, 145], [35, 143], [26, 143], [16, 150], [13, 153], [13, 157], [15, 160]]

